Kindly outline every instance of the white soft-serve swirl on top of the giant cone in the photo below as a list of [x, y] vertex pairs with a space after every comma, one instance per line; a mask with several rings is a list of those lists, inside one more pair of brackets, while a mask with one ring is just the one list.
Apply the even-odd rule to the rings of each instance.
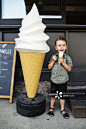
[[22, 20], [22, 27], [19, 29], [19, 38], [15, 39], [15, 49], [19, 52], [46, 53], [50, 50], [46, 41], [49, 36], [44, 33], [46, 25], [42, 23], [42, 18], [34, 3], [31, 11]]

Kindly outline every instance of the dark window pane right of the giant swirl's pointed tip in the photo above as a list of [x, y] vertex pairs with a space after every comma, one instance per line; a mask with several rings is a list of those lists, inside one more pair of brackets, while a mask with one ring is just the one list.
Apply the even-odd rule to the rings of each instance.
[[42, 18], [62, 18], [61, 0], [25, 0], [26, 12], [28, 13], [36, 3]]

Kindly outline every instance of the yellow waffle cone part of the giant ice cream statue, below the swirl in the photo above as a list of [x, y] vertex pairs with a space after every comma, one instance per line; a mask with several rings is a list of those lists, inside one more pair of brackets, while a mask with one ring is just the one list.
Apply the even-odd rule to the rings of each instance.
[[34, 98], [40, 79], [45, 53], [19, 53], [27, 96], [29, 98]]

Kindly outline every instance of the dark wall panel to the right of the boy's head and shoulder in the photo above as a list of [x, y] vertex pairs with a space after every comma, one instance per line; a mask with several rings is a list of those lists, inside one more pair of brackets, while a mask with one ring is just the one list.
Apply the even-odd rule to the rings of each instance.
[[74, 68], [86, 68], [86, 32], [69, 32], [68, 42]]

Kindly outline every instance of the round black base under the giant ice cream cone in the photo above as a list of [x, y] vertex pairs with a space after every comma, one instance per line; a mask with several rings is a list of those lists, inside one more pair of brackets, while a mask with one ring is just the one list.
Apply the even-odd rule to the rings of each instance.
[[21, 94], [16, 101], [17, 112], [26, 117], [39, 116], [45, 112], [46, 98], [37, 93], [35, 98], [28, 98], [27, 94]]

